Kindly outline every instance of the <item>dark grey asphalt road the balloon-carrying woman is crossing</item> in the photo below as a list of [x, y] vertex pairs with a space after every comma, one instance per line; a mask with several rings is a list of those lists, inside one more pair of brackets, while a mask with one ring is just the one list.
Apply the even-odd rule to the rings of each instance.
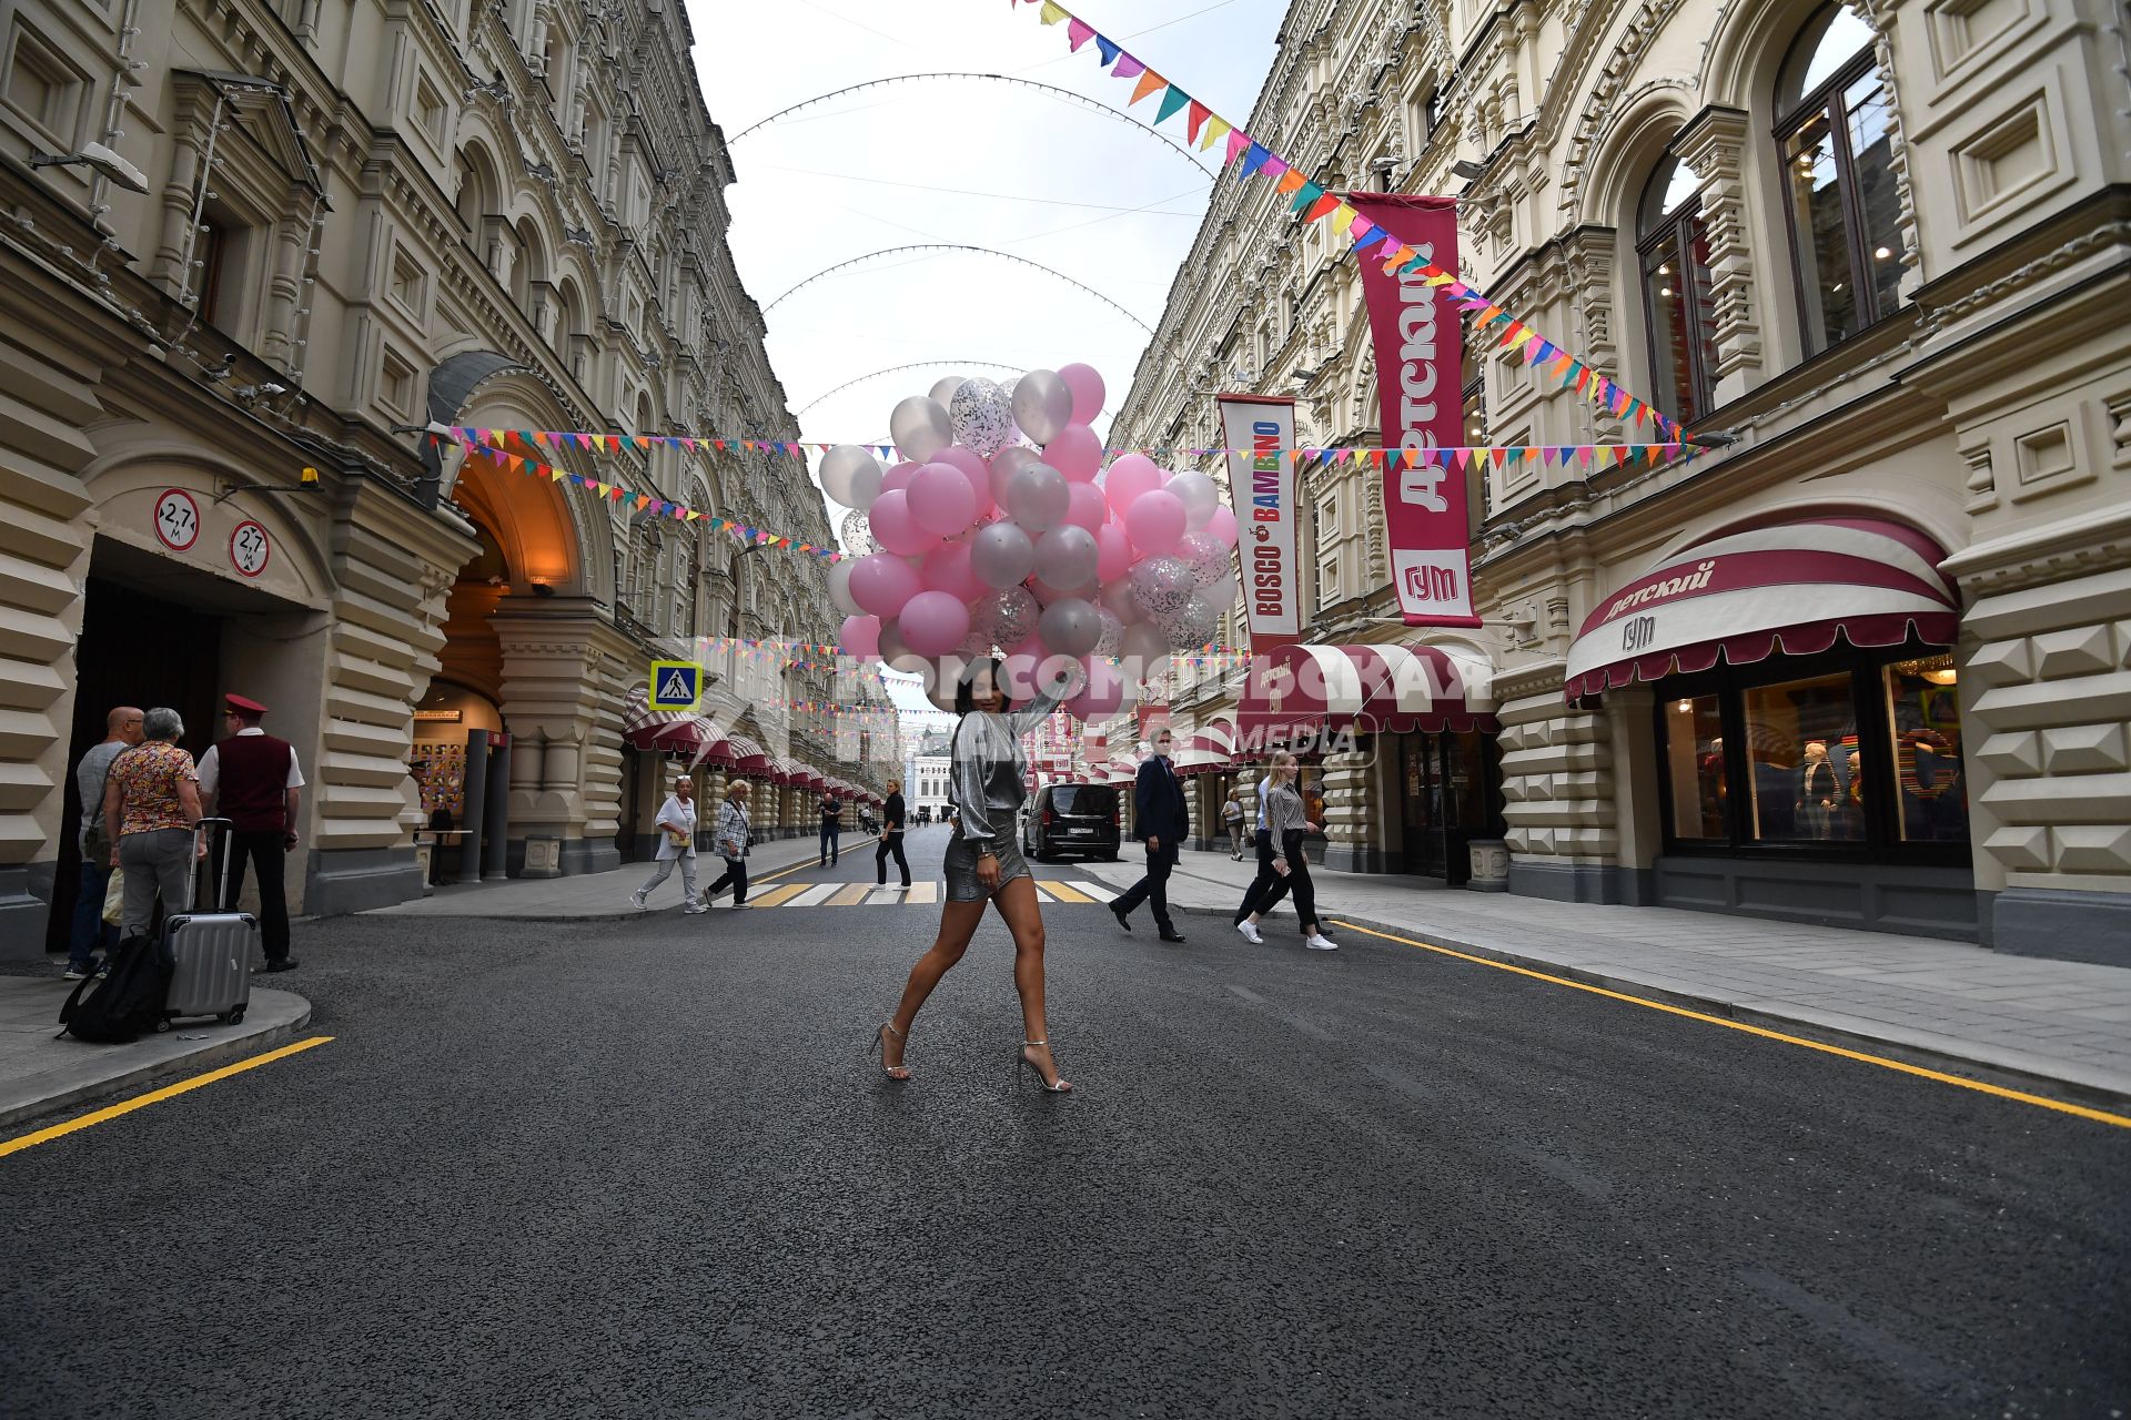
[[2131, 1130], [1046, 922], [1068, 1099], [997, 924], [861, 1062], [936, 907], [298, 928], [332, 1043], [0, 1160], [0, 1414], [2131, 1411]]

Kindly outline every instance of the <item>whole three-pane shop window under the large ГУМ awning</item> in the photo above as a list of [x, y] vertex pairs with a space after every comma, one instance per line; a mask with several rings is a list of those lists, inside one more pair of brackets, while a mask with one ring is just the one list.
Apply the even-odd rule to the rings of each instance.
[[[1786, 675], [1788, 668], [1788, 675]], [[1658, 683], [1673, 852], [1958, 862], [1969, 845], [1954, 660], [1837, 649]]]

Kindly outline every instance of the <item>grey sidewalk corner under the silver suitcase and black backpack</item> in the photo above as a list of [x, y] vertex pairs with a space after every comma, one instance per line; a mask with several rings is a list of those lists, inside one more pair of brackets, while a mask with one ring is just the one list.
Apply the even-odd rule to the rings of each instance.
[[0, 975], [0, 1130], [286, 1045], [311, 1024], [309, 1001], [254, 986], [243, 1024], [188, 1020], [132, 1045], [90, 1045], [72, 1037], [53, 1039], [70, 990], [75, 984], [62, 981], [58, 967], [38, 975]]

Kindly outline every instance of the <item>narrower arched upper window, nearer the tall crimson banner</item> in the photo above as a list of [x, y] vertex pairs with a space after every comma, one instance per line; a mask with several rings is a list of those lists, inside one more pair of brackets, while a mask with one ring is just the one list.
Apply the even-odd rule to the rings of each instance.
[[1709, 413], [1718, 368], [1709, 232], [1703, 228], [1703, 179], [1694, 168], [1666, 155], [1649, 175], [1634, 228], [1658, 409], [1694, 424]]

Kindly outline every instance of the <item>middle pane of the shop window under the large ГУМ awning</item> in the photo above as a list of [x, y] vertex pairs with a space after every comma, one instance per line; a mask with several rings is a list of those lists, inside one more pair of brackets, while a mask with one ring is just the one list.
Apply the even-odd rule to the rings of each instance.
[[1845, 745], [1856, 743], [1856, 698], [1848, 675], [1747, 690], [1752, 835], [1807, 843], [1862, 839], [1865, 824], [1848, 813], [1848, 790], [1837, 771], [1837, 760], [1848, 760]]

